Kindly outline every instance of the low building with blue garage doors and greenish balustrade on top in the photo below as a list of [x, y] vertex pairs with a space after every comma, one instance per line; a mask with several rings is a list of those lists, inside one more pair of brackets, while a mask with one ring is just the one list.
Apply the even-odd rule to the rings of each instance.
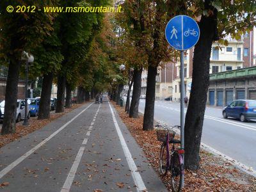
[[210, 75], [207, 104], [225, 106], [236, 99], [256, 100], [256, 66]]

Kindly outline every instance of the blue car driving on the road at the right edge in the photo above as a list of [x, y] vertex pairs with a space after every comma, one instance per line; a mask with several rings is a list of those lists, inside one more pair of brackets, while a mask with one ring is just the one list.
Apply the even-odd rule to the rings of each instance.
[[256, 100], [234, 100], [223, 111], [223, 118], [239, 118], [241, 122], [256, 119]]

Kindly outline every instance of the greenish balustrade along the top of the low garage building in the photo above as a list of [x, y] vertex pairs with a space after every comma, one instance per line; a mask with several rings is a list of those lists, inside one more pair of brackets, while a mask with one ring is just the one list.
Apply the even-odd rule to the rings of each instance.
[[232, 78], [241, 78], [248, 76], [256, 76], [256, 66], [241, 68], [237, 70], [229, 70], [226, 72], [220, 72], [218, 74], [210, 74], [210, 81], [220, 80], [220, 79], [232, 79]]

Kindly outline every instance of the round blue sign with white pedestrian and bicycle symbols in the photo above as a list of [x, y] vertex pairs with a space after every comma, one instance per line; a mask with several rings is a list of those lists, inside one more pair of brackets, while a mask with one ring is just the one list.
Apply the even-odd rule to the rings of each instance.
[[165, 28], [167, 42], [179, 51], [195, 46], [200, 36], [200, 29], [194, 19], [187, 15], [178, 15], [171, 19]]

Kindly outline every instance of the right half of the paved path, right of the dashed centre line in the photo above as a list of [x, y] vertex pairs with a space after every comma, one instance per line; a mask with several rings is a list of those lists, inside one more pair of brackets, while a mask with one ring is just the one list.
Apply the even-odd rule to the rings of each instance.
[[143, 191], [144, 187], [147, 191], [167, 191], [108, 102], [102, 104], [86, 138], [85, 152], [70, 191]]

